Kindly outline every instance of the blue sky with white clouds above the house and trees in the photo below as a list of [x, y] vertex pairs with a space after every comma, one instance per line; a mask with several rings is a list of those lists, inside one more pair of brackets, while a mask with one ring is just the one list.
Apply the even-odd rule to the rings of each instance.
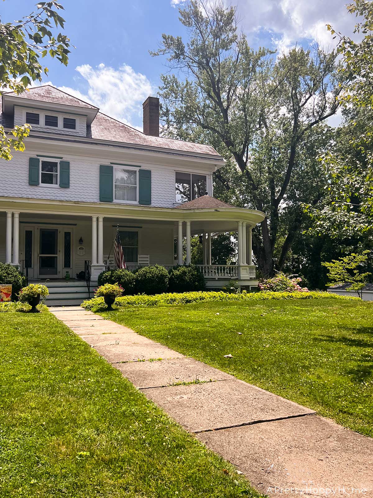
[[[287, 50], [295, 42], [332, 40], [325, 24], [351, 33], [355, 18], [341, 0], [236, 0], [249, 43]], [[34, 1], [1, 2], [2, 22], [30, 13]], [[69, 66], [48, 60], [45, 83], [98, 106], [124, 123], [142, 128], [142, 102], [156, 95], [165, 60], [153, 58], [162, 33], [186, 35], [181, 0], [61, 0], [72, 49]]]

